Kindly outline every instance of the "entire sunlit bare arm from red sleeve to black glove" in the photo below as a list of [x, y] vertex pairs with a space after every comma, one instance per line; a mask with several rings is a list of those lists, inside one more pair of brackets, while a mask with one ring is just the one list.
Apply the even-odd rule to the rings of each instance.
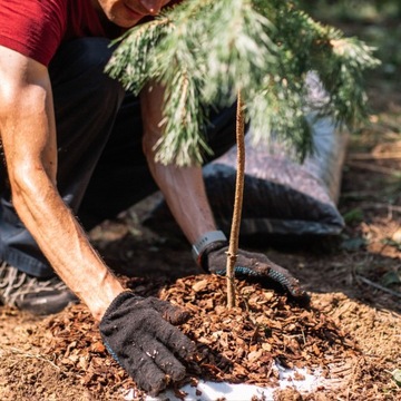
[[63, 282], [100, 320], [124, 291], [57, 190], [57, 139], [48, 70], [0, 47], [0, 135], [12, 203]]

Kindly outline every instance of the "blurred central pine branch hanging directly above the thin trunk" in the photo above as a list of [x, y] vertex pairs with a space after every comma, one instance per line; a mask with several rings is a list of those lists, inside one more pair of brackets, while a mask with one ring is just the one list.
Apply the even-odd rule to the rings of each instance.
[[268, 36], [274, 28], [250, 0], [216, 1], [209, 11], [214, 17], [195, 27], [205, 37], [199, 55], [206, 72], [203, 98], [223, 107], [234, 102], [238, 90], [262, 85], [275, 63], [276, 47]]

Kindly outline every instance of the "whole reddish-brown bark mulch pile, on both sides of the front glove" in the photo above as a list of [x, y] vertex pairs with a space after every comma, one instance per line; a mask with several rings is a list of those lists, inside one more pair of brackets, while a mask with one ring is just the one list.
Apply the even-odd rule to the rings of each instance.
[[[198, 355], [187, 364], [185, 380], [194, 385], [198, 379], [205, 379], [275, 387], [277, 362], [284, 368], [307, 368], [311, 372], [316, 369], [326, 378], [336, 370], [341, 378], [349, 373], [349, 361], [359, 355], [351, 336], [319, 305], [299, 305], [257, 284], [238, 281], [238, 306], [232, 310], [225, 307], [224, 277], [189, 276], [165, 284], [162, 290], [162, 283], [155, 278], [127, 278], [126, 284], [141, 295], [157, 294], [192, 312], [180, 329], [197, 343]], [[84, 305], [74, 305], [43, 324], [49, 333], [41, 344], [45, 353], [52, 355], [62, 371], [75, 371], [80, 384], [90, 392], [110, 397], [135, 389], [135, 383], [108, 355]], [[302, 379], [302, 374], [295, 378]], [[178, 385], [176, 393], [185, 397]], [[136, 394], [138, 399], [144, 395]]]

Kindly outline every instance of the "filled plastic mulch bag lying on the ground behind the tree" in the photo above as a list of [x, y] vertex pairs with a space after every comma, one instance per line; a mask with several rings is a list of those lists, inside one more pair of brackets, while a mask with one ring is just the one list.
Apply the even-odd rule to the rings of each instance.
[[[313, 77], [312, 77], [313, 78]], [[311, 101], [324, 92], [311, 80]], [[336, 208], [348, 135], [339, 133], [330, 118], [313, 119], [314, 155], [299, 164], [280, 144], [270, 147], [245, 138], [245, 183], [241, 236], [338, 235], [344, 222]], [[207, 196], [217, 226], [229, 234], [233, 216], [236, 146], [204, 167]], [[173, 217], [164, 202], [144, 222], [156, 231]]]

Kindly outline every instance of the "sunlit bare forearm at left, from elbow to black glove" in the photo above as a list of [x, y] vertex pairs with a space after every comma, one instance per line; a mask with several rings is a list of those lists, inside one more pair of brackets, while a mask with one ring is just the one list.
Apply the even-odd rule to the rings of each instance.
[[[121, 284], [92, 248], [52, 185], [31, 184], [29, 189], [19, 185], [18, 195], [14, 192], [13, 204], [21, 221], [57, 274], [100, 320], [124, 291]], [[43, 187], [47, 189], [37, 189]]]

